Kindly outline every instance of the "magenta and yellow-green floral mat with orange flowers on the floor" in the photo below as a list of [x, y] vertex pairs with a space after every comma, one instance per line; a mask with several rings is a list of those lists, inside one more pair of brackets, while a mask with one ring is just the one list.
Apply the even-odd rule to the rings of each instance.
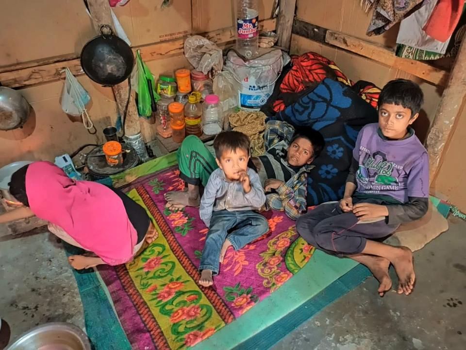
[[196, 208], [165, 208], [164, 193], [184, 188], [178, 175], [170, 167], [124, 190], [148, 210], [159, 237], [133, 262], [99, 267], [136, 350], [199, 343], [280, 288], [314, 253], [283, 212], [266, 212], [270, 231], [239, 251], [230, 247], [214, 286], [198, 285], [207, 228]]

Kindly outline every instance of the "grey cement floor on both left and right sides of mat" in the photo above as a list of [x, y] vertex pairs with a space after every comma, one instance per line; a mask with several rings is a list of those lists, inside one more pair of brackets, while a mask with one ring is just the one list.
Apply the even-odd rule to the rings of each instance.
[[[380, 298], [376, 280], [368, 279], [272, 350], [466, 349], [466, 223], [452, 218], [449, 225], [416, 252], [413, 295]], [[45, 322], [83, 328], [81, 300], [61, 244], [46, 231], [2, 241], [7, 234], [0, 225], [0, 316], [10, 325], [10, 344]]]

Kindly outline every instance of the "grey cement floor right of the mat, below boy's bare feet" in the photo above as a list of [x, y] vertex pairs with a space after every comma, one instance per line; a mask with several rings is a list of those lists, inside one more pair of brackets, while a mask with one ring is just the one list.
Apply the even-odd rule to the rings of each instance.
[[271, 350], [466, 349], [465, 233], [466, 223], [450, 218], [449, 230], [415, 253], [412, 295], [381, 298], [367, 279]]

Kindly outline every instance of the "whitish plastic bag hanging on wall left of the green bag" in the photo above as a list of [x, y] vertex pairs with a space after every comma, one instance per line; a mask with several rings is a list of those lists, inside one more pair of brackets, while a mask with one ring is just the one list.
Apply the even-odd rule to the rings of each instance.
[[62, 109], [65, 113], [72, 116], [81, 116], [84, 127], [90, 130], [94, 127], [94, 124], [87, 113], [86, 105], [91, 100], [91, 97], [68, 68], [65, 69], [65, 74], [66, 79], [62, 91]]

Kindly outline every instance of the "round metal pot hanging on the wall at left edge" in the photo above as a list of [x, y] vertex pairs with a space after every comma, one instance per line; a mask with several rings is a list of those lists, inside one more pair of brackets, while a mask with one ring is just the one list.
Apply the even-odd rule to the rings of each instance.
[[31, 106], [17, 90], [0, 87], [0, 130], [23, 126], [31, 114]]

